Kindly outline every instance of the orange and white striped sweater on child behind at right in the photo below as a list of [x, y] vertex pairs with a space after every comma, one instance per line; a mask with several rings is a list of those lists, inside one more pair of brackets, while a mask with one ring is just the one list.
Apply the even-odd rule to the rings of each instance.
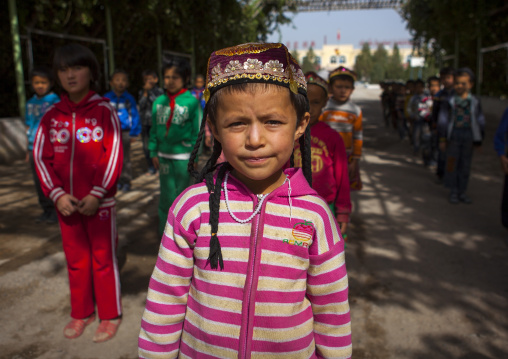
[[360, 107], [354, 104], [351, 99], [340, 103], [333, 97], [330, 98], [319, 121], [327, 123], [340, 133], [348, 156], [358, 159], [362, 156], [363, 115]]

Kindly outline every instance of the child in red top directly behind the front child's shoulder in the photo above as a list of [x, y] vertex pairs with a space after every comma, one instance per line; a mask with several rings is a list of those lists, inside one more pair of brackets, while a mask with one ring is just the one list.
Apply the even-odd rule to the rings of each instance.
[[[305, 79], [310, 106], [312, 188], [328, 203], [345, 237], [351, 213], [346, 148], [337, 131], [319, 122], [321, 110], [328, 100], [328, 82], [315, 72], [307, 72]], [[295, 145], [295, 165], [302, 167], [298, 143]]]

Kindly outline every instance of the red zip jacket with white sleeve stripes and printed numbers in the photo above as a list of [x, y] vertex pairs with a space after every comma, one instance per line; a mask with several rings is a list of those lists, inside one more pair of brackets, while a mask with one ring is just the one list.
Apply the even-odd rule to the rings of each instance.
[[34, 160], [44, 194], [56, 203], [69, 193], [115, 204], [122, 170], [120, 122], [109, 101], [93, 91], [78, 104], [64, 94], [42, 117]]

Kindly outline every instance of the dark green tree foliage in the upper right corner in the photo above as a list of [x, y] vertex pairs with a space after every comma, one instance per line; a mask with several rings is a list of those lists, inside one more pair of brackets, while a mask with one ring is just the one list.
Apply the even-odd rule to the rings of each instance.
[[[508, 42], [505, 0], [406, 1], [402, 13], [417, 50], [427, 61], [432, 59], [436, 67], [453, 66], [454, 59], [445, 57], [455, 55], [459, 67], [467, 66], [476, 72], [479, 45]], [[485, 54], [482, 93], [506, 94], [506, 61], [506, 50]]]

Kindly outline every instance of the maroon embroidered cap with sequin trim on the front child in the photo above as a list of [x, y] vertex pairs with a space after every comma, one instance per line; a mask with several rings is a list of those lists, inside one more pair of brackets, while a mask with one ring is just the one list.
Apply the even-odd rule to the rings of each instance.
[[307, 94], [303, 71], [280, 43], [247, 43], [213, 52], [208, 59], [203, 96], [208, 102], [218, 89], [246, 82], [264, 82]]

